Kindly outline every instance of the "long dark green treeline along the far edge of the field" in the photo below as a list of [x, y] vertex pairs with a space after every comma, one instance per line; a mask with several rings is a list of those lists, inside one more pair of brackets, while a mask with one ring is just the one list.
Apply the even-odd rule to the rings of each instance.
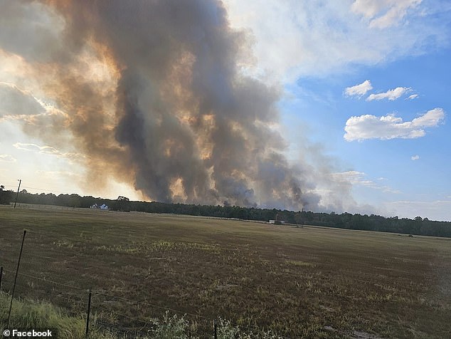
[[[11, 191], [3, 191], [11, 192]], [[1, 193], [0, 193], [1, 195]], [[13, 197], [14, 194], [9, 194]], [[1, 197], [0, 197], [1, 199]], [[268, 221], [285, 220], [288, 224], [307, 224], [315, 226], [329, 226], [340, 229], [361, 229], [368, 231], [386, 231], [400, 234], [417, 234], [425, 236], [451, 237], [451, 222], [431, 221], [427, 218], [415, 219], [398, 217], [381, 217], [378, 215], [361, 215], [334, 212], [315, 213], [309, 211], [287, 211], [280, 209], [258, 209], [254, 207], [238, 206], [208, 206], [195, 204], [166, 204], [162, 202], [133, 202], [126, 197], [118, 199], [102, 199], [95, 197], [80, 197], [78, 194], [31, 194], [23, 190], [18, 194], [18, 202], [28, 204], [51, 204], [66, 207], [89, 208], [94, 204], [107, 204], [116, 211], [137, 211], [147, 213], [188, 214], [203, 217], [235, 218], [244, 220]]]

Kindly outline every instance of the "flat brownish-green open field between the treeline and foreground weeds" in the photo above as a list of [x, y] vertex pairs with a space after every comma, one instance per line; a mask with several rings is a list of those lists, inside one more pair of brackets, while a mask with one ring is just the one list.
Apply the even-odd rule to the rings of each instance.
[[289, 338], [451, 337], [450, 239], [0, 207], [2, 290], [23, 229], [17, 296], [79, 313], [92, 288], [105, 325], [144, 327], [171, 309], [198, 331], [221, 316]]

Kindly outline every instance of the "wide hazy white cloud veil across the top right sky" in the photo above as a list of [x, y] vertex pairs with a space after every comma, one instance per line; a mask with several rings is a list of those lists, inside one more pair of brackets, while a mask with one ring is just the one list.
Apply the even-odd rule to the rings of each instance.
[[[449, 14], [418, 0], [355, 1], [354, 11], [349, 1], [224, 2], [230, 24], [253, 36], [249, 46], [257, 63], [247, 71], [270, 80], [290, 82], [302, 75], [349, 71], [356, 64], [426, 53], [431, 43], [449, 41]], [[404, 24], [396, 26], [400, 21]], [[384, 25], [382, 32], [372, 28]]]

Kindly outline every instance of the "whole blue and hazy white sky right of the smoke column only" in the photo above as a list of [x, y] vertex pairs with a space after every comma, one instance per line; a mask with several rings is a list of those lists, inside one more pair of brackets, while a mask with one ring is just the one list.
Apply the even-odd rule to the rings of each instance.
[[[255, 35], [258, 70], [265, 77], [266, 67], [268, 78], [282, 79], [281, 130], [289, 157], [305, 156], [305, 144], [321, 154], [332, 176], [352, 183], [349, 210], [451, 220], [451, 4], [238, 2], [230, 0], [232, 12], [238, 26]], [[346, 94], [365, 82], [371, 84], [366, 92]], [[399, 95], [389, 100], [396, 88]], [[427, 125], [413, 128], [423, 136], [393, 135], [390, 126], [373, 121], [393, 115], [412, 122], [435, 109], [427, 115], [436, 113], [432, 120], [416, 120]], [[373, 115], [372, 122], [365, 115]], [[351, 117], [367, 123], [346, 140]]]

